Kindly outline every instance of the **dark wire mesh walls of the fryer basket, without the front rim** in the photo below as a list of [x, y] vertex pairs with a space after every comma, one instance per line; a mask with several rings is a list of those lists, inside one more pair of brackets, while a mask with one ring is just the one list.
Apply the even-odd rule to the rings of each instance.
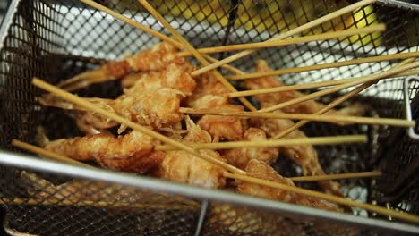
[[[154, 30], [167, 33], [160, 24], [142, 9], [134, 0], [98, 1], [118, 13], [150, 25]], [[219, 46], [259, 42], [272, 38], [280, 32], [293, 29], [321, 15], [341, 8], [348, 1], [301, 0], [301, 1], [150, 1], [158, 12], [165, 13], [175, 29], [184, 35], [193, 46]], [[303, 7], [300, 7], [303, 6]], [[402, 51], [415, 51], [419, 45], [419, 14], [405, 9], [394, 9], [379, 4], [369, 5], [327, 22], [302, 35], [322, 33], [329, 30], [343, 30], [363, 27], [376, 22], [385, 22], [388, 30], [381, 34], [361, 35], [360, 37], [339, 38], [296, 46], [285, 46], [260, 50], [234, 64], [244, 71], [252, 71], [254, 61], [264, 58], [274, 68], [305, 66], [316, 63], [344, 61], [359, 56], [385, 55]], [[51, 139], [72, 137], [79, 134], [73, 122], [56, 109], [40, 107], [34, 100], [39, 95], [37, 89], [30, 86], [30, 79], [38, 76], [51, 83], [69, 78], [78, 72], [92, 68], [104, 60], [122, 58], [158, 42], [158, 39], [141, 30], [116, 21], [106, 13], [90, 9], [78, 1], [21, 1], [13, 24], [0, 51], [0, 128], [4, 135], [0, 137], [0, 147], [13, 150], [10, 141], [13, 138], [33, 143], [37, 125], [44, 124], [47, 136]], [[217, 55], [223, 57], [231, 54]], [[355, 77], [379, 72], [389, 68], [390, 63], [368, 63], [346, 66], [337, 69], [325, 69], [315, 72], [286, 74], [280, 78], [288, 84], [337, 78]], [[91, 89], [82, 89], [81, 96], [115, 97], [121, 92], [116, 82], [107, 82]], [[385, 80], [373, 86], [357, 97], [355, 101], [371, 106], [372, 116], [402, 117], [402, 82]], [[415, 95], [417, 85], [411, 88]], [[323, 97], [327, 102], [333, 97]], [[413, 98], [413, 97], [412, 97]], [[416, 117], [417, 119], [417, 117]], [[316, 147], [321, 156], [321, 164], [327, 173], [362, 172], [378, 168], [384, 171], [384, 183], [391, 184], [406, 169], [417, 153], [417, 144], [407, 137], [398, 139], [391, 145], [393, 155], [383, 155], [389, 151], [390, 138], [396, 129], [367, 125], [342, 127], [329, 123], [309, 123], [303, 129], [308, 136], [325, 136], [365, 133], [369, 136], [368, 144], [336, 145]], [[400, 132], [398, 132], [400, 133]], [[403, 135], [404, 133], [400, 134]], [[393, 148], [394, 147], [394, 148]], [[395, 155], [398, 153], [398, 155]], [[285, 176], [301, 174], [295, 164], [286, 163], [278, 158], [275, 167]], [[96, 181], [85, 181], [67, 193], [62, 190], [43, 192], [29, 190], [28, 182], [22, 181], [21, 171], [2, 168], [0, 181], [3, 198], [40, 198], [43, 203], [13, 204], [7, 202], [7, 212], [11, 226], [21, 232], [41, 235], [192, 235], [200, 215], [200, 201], [194, 201], [193, 209], [133, 209], [141, 204], [144, 190], [129, 189], [106, 183], [109, 188], [128, 191], [126, 196], [115, 199], [114, 194], [98, 196]], [[44, 177], [44, 175], [39, 174]], [[49, 178], [48, 178], [49, 177]], [[71, 179], [63, 176], [46, 176], [59, 186]], [[78, 181], [78, 180], [74, 180]], [[375, 181], [341, 181], [346, 196], [370, 202], [381, 198], [381, 188]], [[305, 186], [304, 187], [312, 187]], [[403, 196], [391, 202], [391, 206], [414, 214], [419, 214], [417, 206], [418, 186], [409, 186]], [[118, 189], [119, 188], [119, 189]], [[96, 188], [98, 190], [98, 188]], [[88, 192], [86, 192], [88, 191]], [[132, 192], [130, 192], [132, 191]], [[84, 192], [94, 203], [85, 206], [69, 206], [68, 202], [80, 203], [77, 194]], [[40, 195], [41, 194], [41, 195]], [[156, 196], [161, 193], [154, 193]], [[57, 195], [61, 198], [57, 199]], [[146, 194], [147, 195], [147, 194]], [[365, 196], [366, 195], [366, 196]], [[72, 199], [73, 198], [73, 199]], [[112, 199], [113, 198], [113, 199]], [[168, 199], [168, 197], [167, 197]], [[163, 204], [165, 198], [157, 198], [151, 206]], [[173, 200], [173, 198], [170, 198]], [[91, 200], [91, 199], [90, 199]], [[110, 202], [109, 207], [95, 207], [94, 204]], [[128, 201], [130, 206], [116, 207]], [[48, 204], [49, 203], [49, 204]], [[176, 205], [178, 203], [171, 203]], [[381, 203], [384, 205], [385, 203]], [[364, 215], [362, 211], [356, 215]], [[65, 215], [65, 217], [64, 217]], [[153, 215], [150, 219], [144, 215]], [[237, 217], [235, 215], [240, 215]], [[278, 235], [330, 235], [342, 231], [343, 235], [364, 233], [345, 225], [316, 223], [316, 221], [297, 221], [275, 213], [264, 213], [257, 209], [242, 206], [210, 203], [205, 215], [202, 233], [204, 235], [243, 235], [273, 234]], [[370, 215], [374, 216], [374, 215]], [[243, 218], [243, 219], [242, 219]], [[57, 220], [58, 219], [58, 220]], [[273, 222], [272, 222], [273, 221]], [[264, 225], [261, 227], [261, 224]], [[335, 228], [333, 228], [335, 227]], [[333, 230], [330, 230], [333, 229]], [[282, 233], [283, 232], [283, 233]]]

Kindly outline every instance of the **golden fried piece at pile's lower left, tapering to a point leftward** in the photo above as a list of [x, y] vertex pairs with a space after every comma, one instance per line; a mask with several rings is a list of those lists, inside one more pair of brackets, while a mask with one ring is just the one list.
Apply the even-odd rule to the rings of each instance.
[[47, 143], [47, 150], [75, 160], [95, 160], [107, 168], [134, 173], [145, 173], [159, 164], [162, 152], [153, 152], [157, 143], [149, 136], [131, 131], [122, 137], [99, 133], [73, 139], [57, 139]]

